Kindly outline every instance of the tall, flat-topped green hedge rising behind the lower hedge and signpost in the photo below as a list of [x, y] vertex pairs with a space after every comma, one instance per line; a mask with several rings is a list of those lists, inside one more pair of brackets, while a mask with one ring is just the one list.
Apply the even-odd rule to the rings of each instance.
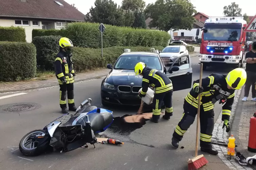
[[[170, 35], [165, 31], [134, 29], [105, 25], [103, 47], [112, 46], [166, 46]], [[74, 22], [68, 23], [61, 30], [33, 29], [32, 38], [37, 36], [62, 36], [69, 38], [74, 46], [86, 48], [101, 48], [101, 33], [98, 23]]]

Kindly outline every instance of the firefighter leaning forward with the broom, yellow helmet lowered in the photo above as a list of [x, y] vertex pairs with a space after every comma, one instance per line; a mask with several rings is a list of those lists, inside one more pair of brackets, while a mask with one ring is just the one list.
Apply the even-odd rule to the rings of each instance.
[[193, 124], [198, 108], [198, 94], [201, 93], [200, 101], [200, 147], [201, 151], [217, 155], [218, 151], [212, 149], [211, 136], [214, 130], [214, 104], [219, 101], [222, 104], [222, 121], [226, 132], [229, 132], [229, 117], [234, 102], [235, 90], [242, 88], [246, 81], [246, 72], [242, 68], [230, 71], [227, 76], [212, 73], [202, 79], [202, 87], [199, 80], [193, 82], [184, 100], [183, 115], [172, 135], [172, 145], [178, 148], [184, 133]]

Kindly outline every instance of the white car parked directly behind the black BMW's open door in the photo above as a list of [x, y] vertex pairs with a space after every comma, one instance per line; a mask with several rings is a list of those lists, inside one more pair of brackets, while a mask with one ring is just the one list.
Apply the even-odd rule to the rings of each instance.
[[[169, 45], [165, 47], [162, 51], [159, 51], [159, 55], [165, 64], [177, 63], [180, 66], [183, 62], [188, 63], [188, 50], [184, 45]], [[177, 60], [178, 57], [181, 57]]]

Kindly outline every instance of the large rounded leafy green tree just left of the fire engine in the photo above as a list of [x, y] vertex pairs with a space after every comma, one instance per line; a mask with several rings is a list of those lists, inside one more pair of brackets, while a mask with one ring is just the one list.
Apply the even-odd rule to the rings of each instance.
[[145, 9], [146, 18], [151, 18], [149, 27], [160, 30], [191, 30], [195, 21], [195, 7], [189, 0], [157, 0]]

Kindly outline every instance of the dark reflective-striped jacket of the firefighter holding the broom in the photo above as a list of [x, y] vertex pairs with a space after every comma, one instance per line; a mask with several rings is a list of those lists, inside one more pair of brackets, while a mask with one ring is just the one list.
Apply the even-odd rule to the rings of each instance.
[[[214, 103], [220, 101], [222, 104], [222, 121], [229, 120], [231, 109], [234, 102], [235, 90], [227, 88], [225, 75], [211, 74], [209, 77], [202, 79], [202, 87], [200, 105], [203, 105], [204, 111], [214, 108]], [[198, 93], [195, 88], [199, 86], [199, 80], [193, 82], [193, 88], [185, 98], [185, 101], [192, 106], [198, 108]]]

